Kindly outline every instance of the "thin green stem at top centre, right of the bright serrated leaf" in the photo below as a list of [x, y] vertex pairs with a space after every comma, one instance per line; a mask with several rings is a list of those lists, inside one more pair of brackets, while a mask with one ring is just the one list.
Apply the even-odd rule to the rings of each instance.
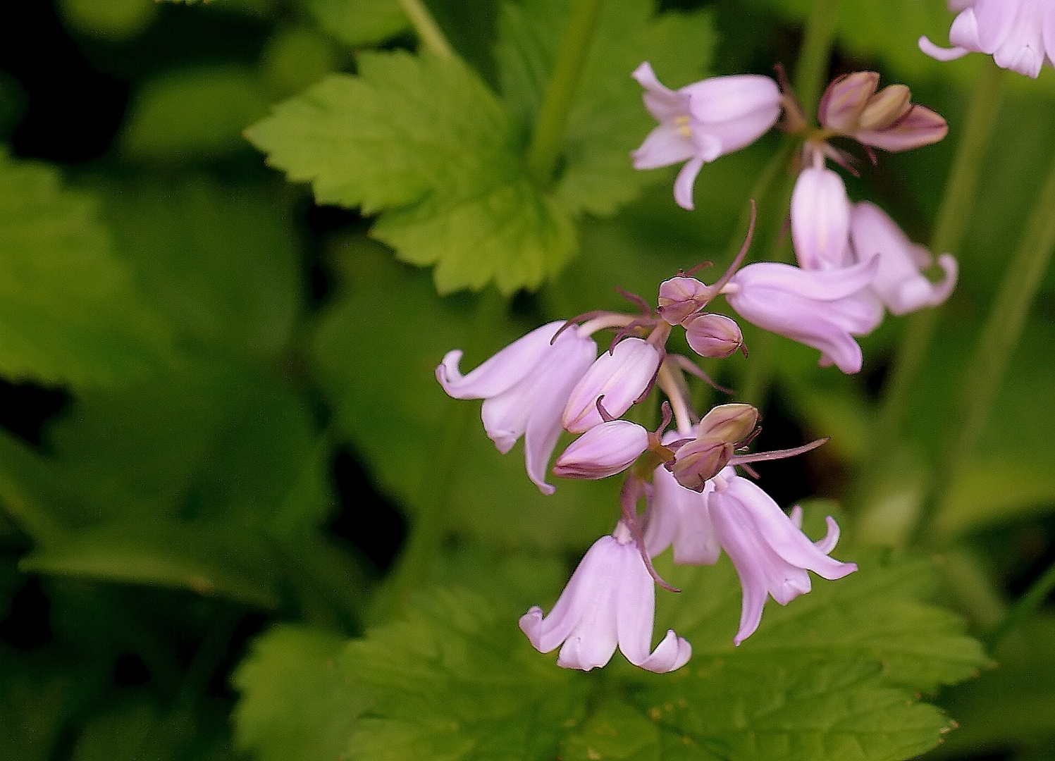
[[550, 186], [557, 168], [568, 117], [590, 56], [602, 2], [603, 0], [577, 0], [564, 30], [553, 76], [542, 98], [538, 121], [535, 122], [535, 131], [524, 159], [528, 173], [541, 188]]

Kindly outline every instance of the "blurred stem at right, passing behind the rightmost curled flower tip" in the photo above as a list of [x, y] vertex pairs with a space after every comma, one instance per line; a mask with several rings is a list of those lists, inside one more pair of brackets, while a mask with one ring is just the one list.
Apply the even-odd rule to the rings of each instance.
[[[1003, 70], [989, 61], [967, 108], [967, 120], [945, 182], [945, 193], [931, 240], [931, 248], [935, 253], [956, 252], [963, 245], [978, 194], [985, 149], [996, 128], [1002, 83]], [[919, 311], [905, 325], [890, 375], [883, 387], [869, 460], [863, 469], [865, 482], [876, 476], [882, 467], [886, 448], [898, 437], [910, 392], [934, 340], [939, 311], [938, 308]]]

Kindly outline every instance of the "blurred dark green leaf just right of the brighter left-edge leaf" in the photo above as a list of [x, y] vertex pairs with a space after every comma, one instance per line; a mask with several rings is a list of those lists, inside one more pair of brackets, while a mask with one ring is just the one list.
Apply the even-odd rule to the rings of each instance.
[[107, 190], [117, 247], [181, 338], [265, 358], [286, 347], [302, 275], [275, 199], [205, 178]]

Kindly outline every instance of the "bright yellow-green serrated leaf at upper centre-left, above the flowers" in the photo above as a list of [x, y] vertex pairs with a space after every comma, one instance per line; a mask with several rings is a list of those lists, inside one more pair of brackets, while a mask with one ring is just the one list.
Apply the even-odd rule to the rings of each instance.
[[383, 212], [372, 234], [441, 293], [537, 288], [575, 248], [570, 217], [521, 165], [501, 102], [464, 63], [370, 53], [248, 131], [320, 203]]

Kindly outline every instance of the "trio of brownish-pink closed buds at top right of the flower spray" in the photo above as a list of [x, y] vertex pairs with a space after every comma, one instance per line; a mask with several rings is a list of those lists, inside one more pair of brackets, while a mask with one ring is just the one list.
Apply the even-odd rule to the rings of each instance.
[[928, 146], [948, 133], [945, 119], [913, 103], [904, 84], [876, 92], [878, 87], [876, 72], [853, 72], [832, 81], [818, 109], [821, 126], [884, 151]]

